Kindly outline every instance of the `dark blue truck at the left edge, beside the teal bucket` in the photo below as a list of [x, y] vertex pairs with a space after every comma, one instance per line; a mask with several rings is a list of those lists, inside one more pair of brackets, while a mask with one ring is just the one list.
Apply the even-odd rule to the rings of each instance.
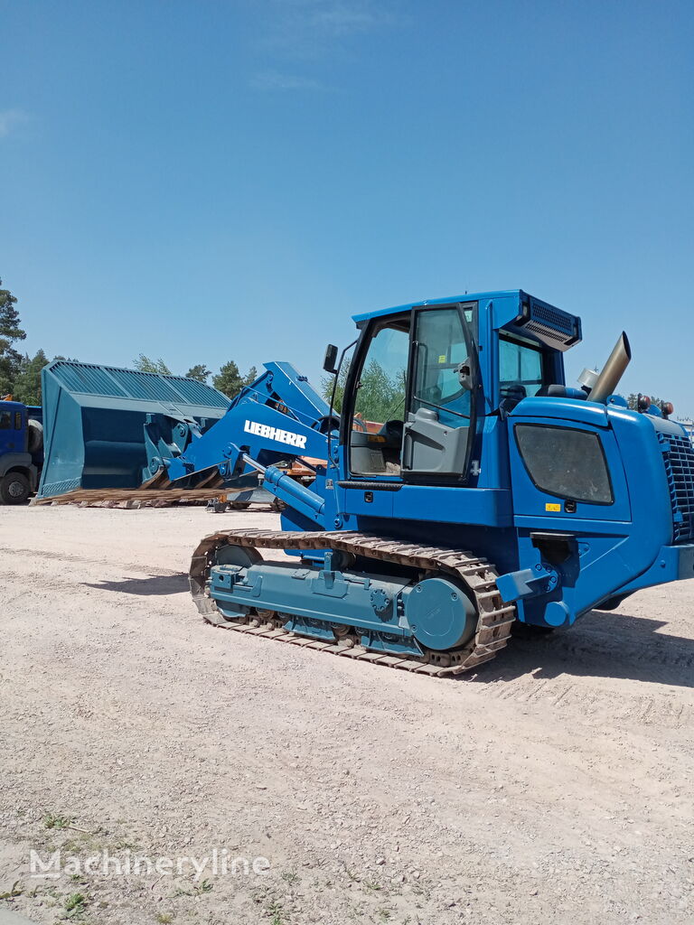
[[0, 401], [0, 503], [23, 504], [36, 491], [43, 464], [42, 409]]

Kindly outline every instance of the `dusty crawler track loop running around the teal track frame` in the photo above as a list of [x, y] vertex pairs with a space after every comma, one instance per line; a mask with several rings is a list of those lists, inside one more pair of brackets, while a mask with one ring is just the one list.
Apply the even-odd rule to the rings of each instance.
[[[479, 616], [475, 637], [466, 647], [456, 649], [452, 653], [429, 651], [428, 660], [424, 661], [413, 657], [383, 655], [361, 646], [348, 648], [320, 642], [285, 629], [254, 627], [228, 621], [217, 610], [217, 604], [209, 596], [207, 586], [217, 549], [228, 544], [251, 549], [338, 549], [368, 559], [395, 562], [426, 572], [451, 574], [463, 582], [477, 603]], [[420, 546], [384, 536], [348, 531], [282, 533], [264, 530], [222, 530], [204, 537], [192, 554], [190, 571], [192, 598], [208, 623], [239, 633], [260, 635], [295, 646], [320, 649], [345, 658], [371, 661], [390, 668], [437, 677], [469, 672], [485, 661], [493, 659], [506, 646], [515, 619], [515, 607], [502, 601], [496, 586], [497, 577], [490, 562], [462, 549]]]

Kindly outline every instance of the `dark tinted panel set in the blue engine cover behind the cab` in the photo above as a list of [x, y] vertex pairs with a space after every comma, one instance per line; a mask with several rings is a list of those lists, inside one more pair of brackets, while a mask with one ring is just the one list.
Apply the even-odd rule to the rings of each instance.
[[515, 439], [540, 491], [588, 504], [612, 504], [612, 482], [597, 434], [573, 427], [518, 424]]

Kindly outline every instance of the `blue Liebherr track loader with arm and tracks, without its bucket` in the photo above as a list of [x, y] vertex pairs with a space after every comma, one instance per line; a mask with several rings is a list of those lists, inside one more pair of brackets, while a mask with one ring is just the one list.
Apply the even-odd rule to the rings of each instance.
[[[354, 320], [349, 367], [326, 354], [339, 421], [288, 364], [273, 388], [268, 364], [206, 434], [154, 461], [173, 485], [259, 472], [285, 506], [279, 532], [219, 531], [195, 550], [206, 621], [448, 675], [494, 658], [515, 621], [549, 631], [694, 577], [694, 449], [614, 394], [626, 335], [569, 388], [580, 319], [522, 290]], [[288, 454], [326, 461], [310, 487], [273, 464]]]

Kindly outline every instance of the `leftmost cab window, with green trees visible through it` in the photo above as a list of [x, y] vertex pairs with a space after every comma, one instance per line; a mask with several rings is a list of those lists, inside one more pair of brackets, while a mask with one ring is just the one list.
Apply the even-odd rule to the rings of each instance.
[[409, 315], [374, 331], [356, 383], [350, 432], [354, 475], [399, 475], [403, 442]]

